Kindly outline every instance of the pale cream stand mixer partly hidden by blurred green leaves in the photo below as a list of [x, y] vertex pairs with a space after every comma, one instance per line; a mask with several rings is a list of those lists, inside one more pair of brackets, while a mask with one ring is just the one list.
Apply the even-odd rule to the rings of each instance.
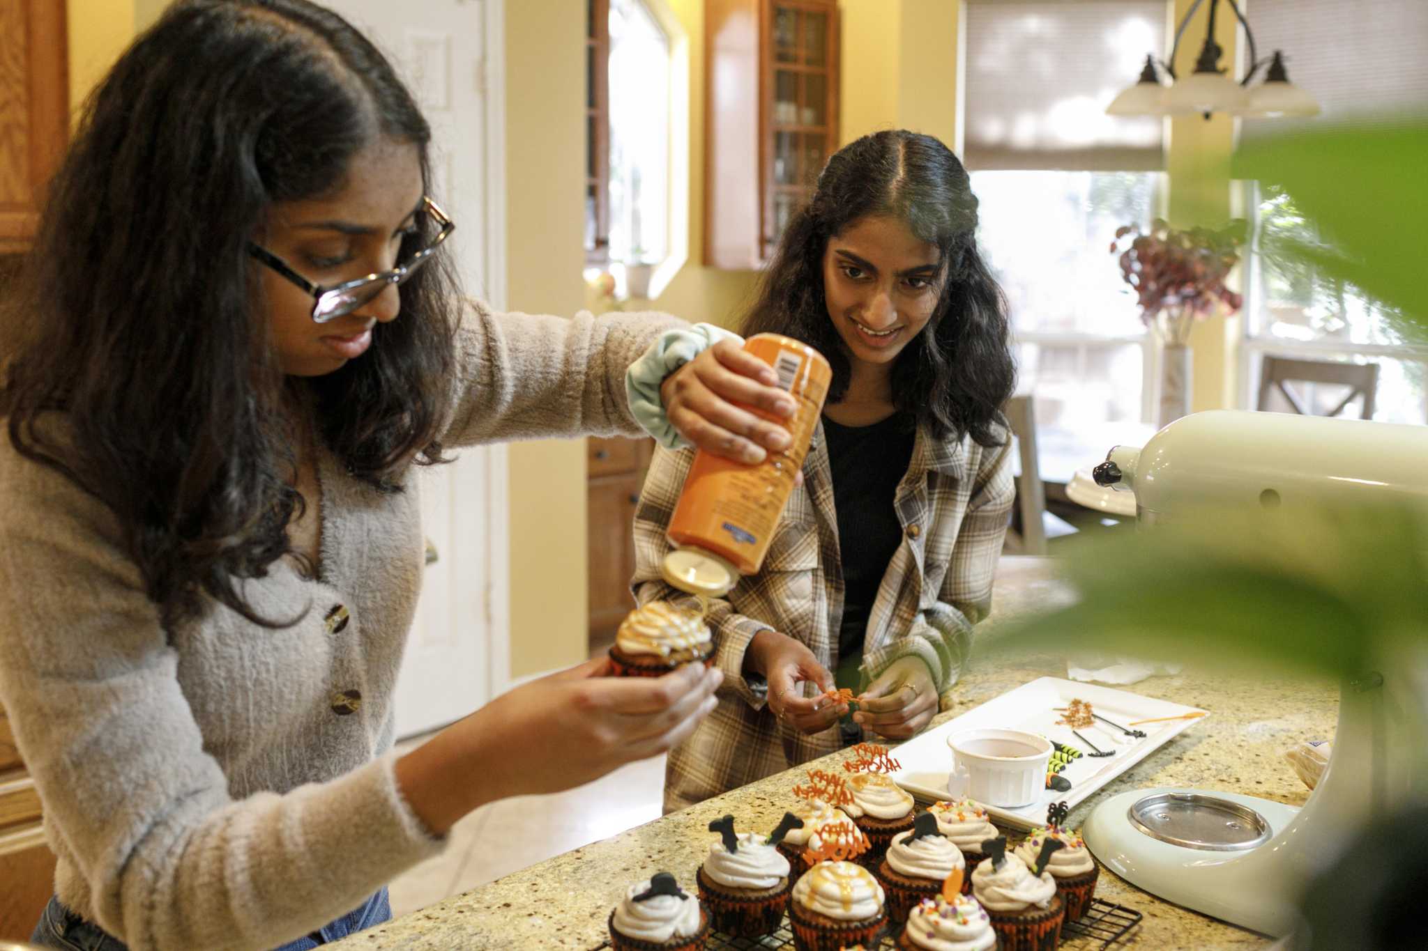
[[[1115, 446], [1094, 475], [1134, 490], [1141, 526], [1214, 513], [1234, 532], [1265, 510], [1292, 519], [1384, 503], [1428, 525], [1428, 426], [1202, 412], [1144, 446]], [[1131, 790], [1091, 813], [1087, 845], [1151, 894], [1288, 934], [1304, 884], [1369, 818], [1422, 796], [1428, 649], [1421, 637], [1407, 644], [1342, 684], [1334, 753], [1302, 808], [1238, 793]]]

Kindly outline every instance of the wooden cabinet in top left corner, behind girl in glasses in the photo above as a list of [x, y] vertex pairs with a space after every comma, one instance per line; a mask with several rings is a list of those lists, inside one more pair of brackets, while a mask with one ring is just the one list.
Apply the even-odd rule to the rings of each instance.
[[69, 140], [64, 4], [0, 0], [0, 255], [30, 247]]

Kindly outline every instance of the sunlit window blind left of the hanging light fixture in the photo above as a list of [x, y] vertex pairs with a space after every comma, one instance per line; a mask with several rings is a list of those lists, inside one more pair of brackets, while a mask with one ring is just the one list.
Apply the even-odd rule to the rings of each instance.
[[1168, 16], [1165, 0], [970, 0], [964, 164], [1160, 171], [1164, 120], [1105, 107], [1147, 53], [1165, 58]]

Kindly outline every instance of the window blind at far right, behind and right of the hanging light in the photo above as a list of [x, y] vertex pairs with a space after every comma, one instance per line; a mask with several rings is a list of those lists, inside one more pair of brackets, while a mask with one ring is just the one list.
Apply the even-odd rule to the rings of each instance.
[[[1309, 118], [1247, 118], [1247, 138], [1428, 113], [1424, 0], [1252, 0], [1245, 17], [1255, 54], [1284, 50], [1289, 81], [1322, 110]], [[1264, 68], [1255, 80], [1262, 77]]]

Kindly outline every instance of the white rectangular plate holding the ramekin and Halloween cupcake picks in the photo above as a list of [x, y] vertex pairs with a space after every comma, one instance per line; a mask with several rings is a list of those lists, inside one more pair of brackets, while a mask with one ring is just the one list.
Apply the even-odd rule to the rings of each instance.
[[[1120, 726], [1144, 730], [1144, 739], [1132, 739], [1122, 734], [1115, 727], [1100, 720], [1095, 727], [1080, 730], [1081, 736], [1101, 750], [1115, 750], [1115, 756], [1092, 757], [1090, 747], [1071, 734], [1071, 727], [1057, 724], [1062, 717], [1055, 707], [1064, 707], [1071, 700], [1085, 700], [1095, 713]], [[945, 800], [947, 773], [951, 768], [952, 754], [947, 749], [947, 737], [961, 730], [978, 727], [995, 727], [1007, 730], [1024, 730], [1040, 733], [1048, 740], [1064, 743], [1081, 750], [1080, 759], [1071, 760], [1060, 776], [1071, 781], [1071, 788], [1065, 793], [1042, 790], [1041, 798], [1031, 806], [1021, 808], [1001, 808], [988, 806], [992, 820], [1014, 828], [1032, 828], [1044, 826], [1047, 821], [1047, 804], [1065, 801], [1075, 807], [1088, 796], [1114, 780], [1117, 776], [1131, 768], [1152, 750], [1164, 746], [1181, 730], [1185, 730], [1204, 717], [1192, 720], [1170, 720], [1165, 723], [1144, 723], [1131, 727], [1131, 720], [1150, 720], [1155, 717], [1174, 717], [1182, 713], [1200, 713], [1198, 707], [1187, 707], [1168, 700], [1152, 700], [1125, 690], [1100, 687], [1091, 683], [1077, 683], [1060, 677], [1041, 677], [1031, 683], [1024, 683], [1015, 690], [988, 700], [987, 703], [968, 710], [954, 720], [948, 720], [940, 727], [914, 737], [892, 750], [902, 768], [892, 774], [897, 784], [921, 800]]]

